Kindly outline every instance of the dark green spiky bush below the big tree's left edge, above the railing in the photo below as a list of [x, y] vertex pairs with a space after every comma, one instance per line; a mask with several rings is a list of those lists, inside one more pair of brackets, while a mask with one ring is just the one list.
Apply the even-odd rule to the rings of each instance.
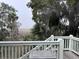
[[39, 24], [36, 24], [34, 28], [32, 29], [33, 37], [37, 40], [44, 40], [45, 39], [45, 33], [44, 30], [40, 28]]

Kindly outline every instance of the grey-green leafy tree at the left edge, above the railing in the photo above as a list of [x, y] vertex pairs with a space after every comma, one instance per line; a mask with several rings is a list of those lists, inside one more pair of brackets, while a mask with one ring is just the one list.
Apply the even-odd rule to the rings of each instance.
[[[16, 10], [5, 3], [1, 3], [0, 6], [0, 40], [6, 39], [6, 37], [11, 40], [18, 33], [17, 27], [18, 16]], [[15, 35], [16, 34], [16, 35]], [[1, 38], [2, 37], [2, 38]]]

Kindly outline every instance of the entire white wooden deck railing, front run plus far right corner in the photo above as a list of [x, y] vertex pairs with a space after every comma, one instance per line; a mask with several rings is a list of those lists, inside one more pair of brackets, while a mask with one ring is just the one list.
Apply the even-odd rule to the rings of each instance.
[[0, 41], [0, 59], [29, 59], [33, 51], [52, 50], [56, 59], [63, 59], [63, 50], [79, 55], [79, 38], [52, 35], [45, 41]]

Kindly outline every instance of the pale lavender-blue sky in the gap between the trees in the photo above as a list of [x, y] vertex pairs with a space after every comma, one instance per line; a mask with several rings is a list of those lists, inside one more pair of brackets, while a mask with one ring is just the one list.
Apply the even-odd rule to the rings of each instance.
[[19, 17], [18, 22], [21, 23], [19, 28], [33, 28], [35, 22], [32, 20], [32, 10], [28, 8], [26, 4], [30, 0], [0, 0], [12, 7], [14, 7], [18, 12]]

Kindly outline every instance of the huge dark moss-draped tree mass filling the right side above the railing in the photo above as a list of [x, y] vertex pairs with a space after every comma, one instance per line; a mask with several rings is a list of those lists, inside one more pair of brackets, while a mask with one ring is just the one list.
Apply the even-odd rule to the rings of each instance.
[[33, 10], [36, 25], [39, 24], [37, 29], [43, 31], [41, 33], [45, 38], [51, 34], [76, 36], [79, 25], [76, 19], [78, 0], [31, 0], [28, 6]]

